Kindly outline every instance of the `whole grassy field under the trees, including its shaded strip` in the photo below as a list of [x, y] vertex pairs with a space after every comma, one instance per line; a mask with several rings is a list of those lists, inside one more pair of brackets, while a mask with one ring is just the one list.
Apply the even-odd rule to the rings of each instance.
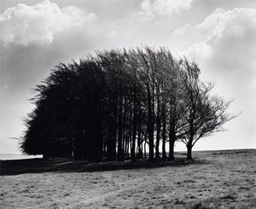
[[256, 208], [255, 149], [194, 157], [136, 164], [0, 161], [0, 208]]

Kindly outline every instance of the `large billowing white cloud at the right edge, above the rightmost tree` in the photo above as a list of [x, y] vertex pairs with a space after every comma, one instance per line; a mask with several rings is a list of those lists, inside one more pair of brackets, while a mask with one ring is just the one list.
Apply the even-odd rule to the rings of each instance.
[[256, 67], [256, 9], [216, 9], [197, 26], [174, 34], [189, 39], [186, 54], [193, 59], [217, 61], [214, 66], [232, 68], [232, 73]]

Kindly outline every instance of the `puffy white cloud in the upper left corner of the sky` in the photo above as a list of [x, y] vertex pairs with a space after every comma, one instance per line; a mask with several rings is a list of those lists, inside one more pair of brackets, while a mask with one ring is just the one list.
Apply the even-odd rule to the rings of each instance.
[[49, 0], [33, 6], [18, 3], [0, 15], [0, 39], [3, 44], [50, 44], [61, 32], [81, 27], [95, 18], [95, 14], [86, 14], [74, 6], [61, 9]]

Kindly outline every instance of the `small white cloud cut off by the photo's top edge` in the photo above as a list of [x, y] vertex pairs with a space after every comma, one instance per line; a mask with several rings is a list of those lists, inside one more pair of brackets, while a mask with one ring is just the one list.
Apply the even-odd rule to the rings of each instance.
[[179, 14], [182, 10], [190, 9], [192, 2], [193, 0], [143, 0], [139, 14], [148, 18], [170, 17], [174, 13]]

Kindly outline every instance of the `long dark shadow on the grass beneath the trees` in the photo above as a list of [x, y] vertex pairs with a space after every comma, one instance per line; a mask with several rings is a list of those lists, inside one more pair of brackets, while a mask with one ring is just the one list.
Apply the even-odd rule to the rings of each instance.
[[0, 175], [18, 175], [23, 173], [42, 172], [90, 172], [90, 171], [116, 171], [127, 169], [150, 169], [162, 166], [186, 166], [191, 164], [205, 164], [207, 161], [187, 161], [177, 158], [168, 160], [131, 160], [91, 163], [84, 160], [67, 159], [29, 159], [29, 160], [0, 160]]

